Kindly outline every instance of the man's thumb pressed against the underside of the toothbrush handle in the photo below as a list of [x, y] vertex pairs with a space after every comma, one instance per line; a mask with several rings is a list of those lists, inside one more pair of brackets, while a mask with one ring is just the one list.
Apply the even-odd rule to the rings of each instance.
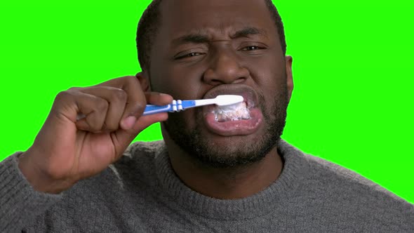
[[117, 152], [116, 159], [121, 157], [122, 153], [131, 144], [134, 138], [136, 138], [139, 133], [145, 130], [145, 128], [156, 122], [166, 121], [166, 119], [168, 119], [168, 113], [166, 112], [141, 116], [137, 121], [135, 121], [135, 124], [131, 129], [126, 130], [119, 128], [117, 131], [115, 131], [112, 142], [114, 143], [114, 147]]

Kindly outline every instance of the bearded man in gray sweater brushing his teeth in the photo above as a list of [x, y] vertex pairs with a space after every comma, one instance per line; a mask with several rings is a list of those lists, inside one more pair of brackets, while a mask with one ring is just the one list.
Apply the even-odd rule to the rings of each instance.
[[[1, 232], [414, 231], [413, 205], [280, 139], [292, 58], [271, 1], [153, 1], [137, 44], [141, 73], [59, 93], [0, 164]], [[249, 116], [142, 116], [221, 94]], [[129, 145], [157, 121], [163, 141]]]

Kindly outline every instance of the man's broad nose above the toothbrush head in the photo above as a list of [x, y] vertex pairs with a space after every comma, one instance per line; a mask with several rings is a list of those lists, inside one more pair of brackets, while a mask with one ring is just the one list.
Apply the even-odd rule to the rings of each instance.
[[203, 81], [211, 85], [239, 84], [246, 81], [250, 73], [240, 65], [239, 58], [231, 49], [217, 50], [211, 55]]

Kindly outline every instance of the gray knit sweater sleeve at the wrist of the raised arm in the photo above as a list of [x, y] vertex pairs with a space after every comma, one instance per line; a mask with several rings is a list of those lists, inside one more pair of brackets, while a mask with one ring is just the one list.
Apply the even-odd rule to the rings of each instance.
[[18, 168], [17, 152], [0, 163], [0, 232], [21, 232], [62, 194], [37, 192]]

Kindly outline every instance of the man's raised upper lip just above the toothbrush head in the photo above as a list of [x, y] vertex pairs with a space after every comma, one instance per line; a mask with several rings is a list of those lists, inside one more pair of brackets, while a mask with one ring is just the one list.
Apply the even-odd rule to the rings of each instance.
[[[258, 106], [258, 95], [256, 95], [250, 86], [242, 84], [222, 84], [208, 91], [203, 96], [203, 99], [215, 98], [218, 95], [241, 95], [249, 109]], [[210, 105], [210, 107], [213, 107], [213, 105]]]

